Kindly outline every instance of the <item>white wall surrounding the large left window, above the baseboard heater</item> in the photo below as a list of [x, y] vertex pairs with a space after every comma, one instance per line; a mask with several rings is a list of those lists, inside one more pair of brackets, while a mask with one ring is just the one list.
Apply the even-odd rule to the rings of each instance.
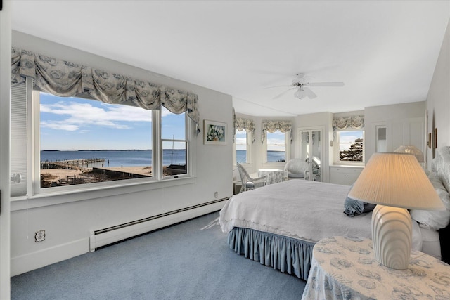
[[[152, 183], [13, 201], [12, 275], [89, 252], [89, 230], [210, 202], [216, 200], [214, 192], [218, 192], [218, 199], [232, 195], [231, 96], [20, 32], [13, 32], [13, 46], [196, 93], [202, 133], [193, 141], [196, 148], [195, 178], [178, 181], [184, 182], [183, 185], [167, 187], [168, 182]], [[228, 145], [203, 145], [203, 119], [228, 124]], [[76, 201], [67, 202], [68, 199]], [[220, 202], [210, 211], [220, 209], [223, 204]], [[172, 223], [176, 221], [180, 220], [174, 219]], [[46, 230], [44, 242], [34, 242], [37, 230]]]

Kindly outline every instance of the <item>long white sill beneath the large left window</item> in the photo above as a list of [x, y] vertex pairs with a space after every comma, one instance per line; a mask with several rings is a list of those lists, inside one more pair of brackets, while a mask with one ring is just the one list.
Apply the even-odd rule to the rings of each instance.
[[32, 195], [30, 197], [13, 197], [11, 198], [11, 211], [91, 200], [99, 197], [109, 197], [113, 195], [138, 193], [160, 188], [170, 188], [177, 185], [193, 184], [195, 183], [195, 181], [195, 177], [171, 178], [162, 181], [125, 183], [120, 185], [108, 185], [95, 188], [80, 188], [77, 190], [41, 193]]

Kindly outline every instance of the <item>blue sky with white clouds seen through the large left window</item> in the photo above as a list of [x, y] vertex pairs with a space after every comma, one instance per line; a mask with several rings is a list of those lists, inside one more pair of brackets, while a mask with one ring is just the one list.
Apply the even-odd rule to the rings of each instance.
[[[151, 149], [151, 110], [40, 96], [41, 150]], [[184, 115], [162, 112], [162, 137], [184, 138]]]

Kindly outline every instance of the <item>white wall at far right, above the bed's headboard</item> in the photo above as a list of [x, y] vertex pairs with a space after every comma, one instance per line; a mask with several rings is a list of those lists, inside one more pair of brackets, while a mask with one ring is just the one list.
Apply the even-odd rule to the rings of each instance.
[[[437, 147], [450, 145], [450, 22], [427, 97], [428, 132], [437, 129]], [[427, 154], [430, 169], [432, 151]]]

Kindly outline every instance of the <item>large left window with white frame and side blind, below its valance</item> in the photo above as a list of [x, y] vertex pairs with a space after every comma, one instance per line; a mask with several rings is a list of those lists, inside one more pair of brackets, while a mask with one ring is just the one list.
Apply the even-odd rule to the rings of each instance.
[[27, 120], [15, 126], [18, 138], [11, 143], [11, 169], [25, 181], [13, 197], [190, 174], [186, 112], [59, 97], [32, 91], [30, 82], [13, 88], [12, 103], [11, 122]]

